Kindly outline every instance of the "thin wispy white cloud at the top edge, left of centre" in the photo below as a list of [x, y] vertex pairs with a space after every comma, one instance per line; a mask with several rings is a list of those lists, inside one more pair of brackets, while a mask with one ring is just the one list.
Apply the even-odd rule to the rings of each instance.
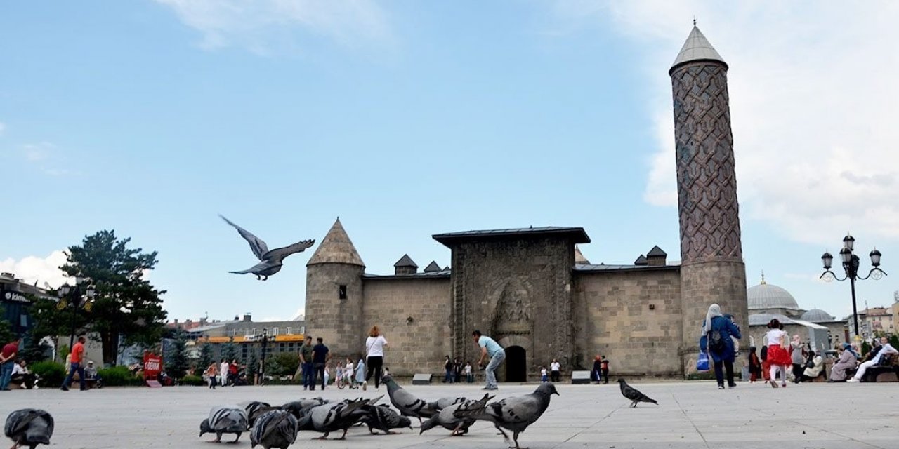
[[156, 0], [203, 33], [202, 48], [237, 45], [267, 54], [285, 47], [291, 31], [346, 46], [390, 39], [386, 13], [373, 0]]

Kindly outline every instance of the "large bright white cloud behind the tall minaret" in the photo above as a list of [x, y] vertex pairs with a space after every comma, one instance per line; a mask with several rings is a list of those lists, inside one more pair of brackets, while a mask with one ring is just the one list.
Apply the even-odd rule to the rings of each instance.
[[[730, 65], [741, 216], [799, 242], [851, 230], [899, 240], [899, 4], [567, 2], [569, 22], [611, 23], [645, 49], [658, 152], [645, 200], [676, 204], [667, 70], [690, 20]], [[641, 49], [641, 51], [644, 51]]]

